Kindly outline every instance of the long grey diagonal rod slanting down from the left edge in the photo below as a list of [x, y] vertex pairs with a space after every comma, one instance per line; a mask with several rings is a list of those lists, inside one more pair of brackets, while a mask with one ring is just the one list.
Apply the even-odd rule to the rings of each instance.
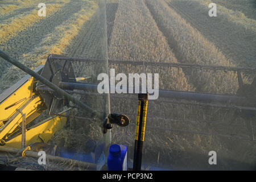
[[29, 75], [33, 76], [36, 78], [36, 80], [39, 80], [43, 84], [49, 86], [49, 88], [55, 90], [55, 92], [61, 94], [61, 96], [66, 97], [69, 101], [72, 101], [74, 104], [79, 105], [82, 107], [82, 109], [90, 111], [93, 115], [97, 115], [97, 112], [90, 108], [88, 105], [82, 103], [81, 101], [77, 100], [75, 97], [71, 96], [67, 92], [65, 92], [63, 89], [60, 89], [59, 86], [56, 86], [52, 82], [48, 81], [46, 78], [40, 76], [38, 73], [32, 71], [31, 69], [27, 68], [25, 65], [20, 63], [19, 61], [11, 58], [9, 55], [7, 55], [5, 52], [0, 50], [0, 57], [8, 61], [9, 63], [15, 65], [16, 67], [22, 69], [24, 72], [28, 73]]

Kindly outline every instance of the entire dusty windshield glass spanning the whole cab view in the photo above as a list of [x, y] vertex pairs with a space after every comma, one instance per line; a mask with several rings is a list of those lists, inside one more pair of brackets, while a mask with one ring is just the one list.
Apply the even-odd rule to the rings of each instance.
[[[38, 169], [108, 169], [111, 144], [127, 146], [128, 169], [140, 166], [138, 151], [145, 170], [255, 169], [255, 7], [253, 0], [0, 1], [0, 50], [72, 95], [1, 56], [1, 145], [48, 147], [85, 162]], [[147, 104], [139, 92], [149, 93]], [[6, 164], [1, 150], [10, 148], [0, 148]], [[23, 164], [13, 165], [31, 160]]]

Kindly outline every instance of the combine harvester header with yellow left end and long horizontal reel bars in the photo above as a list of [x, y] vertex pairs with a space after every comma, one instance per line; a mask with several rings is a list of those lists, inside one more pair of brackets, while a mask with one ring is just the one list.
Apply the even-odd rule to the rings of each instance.
[[[7, 152], [7, 154], [9, 154], [9, 159], [16, 159], [19, 155], [38, 158], [37, 152], [42, 150], [42, 148], [48, 148], [49, 152], [47, 154], [47, 159], [49, 159], [49, 162], [51, 162], [48, 169], [63, 169], [63, 165], [67, 167], [71, 162], [75, 163], [73, 169], [102, 169], [101, 167], [104, 165], [101, 164], [101, 166], [98, 166], [98, 164], [96, 164], [97, 162], [95, 161], [96, 159], [94, 161], [91, 160], [90, 162], [86, 162], [86, 160], [81, 161], [82, 159], [76, 158], [75, 156], [72, 156], [72, 159], [68, 159], [68, 155], [63, 157], [60, 155], [64, 154], [63, 144], [54, 146], [47, 144], [47, 142], [57, 131], [64, 127], [65, 123], [67, 122], [67, 118], [101, 121], [102, 133], [104, 134], [108, 133], [108, 130], [113, 128], [113, 124], [121, 127], [129, 125], [130, 119], [127, 117], [127, 115], [115, 113], [106, 114], [104, 111], [94, 110], [86, 103], [81, 102], [77, 97], [72, 96], [72, 94], [92, 95], [93, 97], [100, 97], [102, 95], [97, 93], [97, 84], [79, 82], [80, 80], [86, 80], [86, 78], [75, 77], [72, 62], [84, 62], [89, 64], [97, 62], [100, 63], [101, 61], [105, 60], [49, 55], [44, 66], [40, 66], [35, 69], [35, 71], [32, 71], [19, 61], [6, 55], [5, 52], [0, 51], [0, 57], [32, 76], [24, 77], [10, 89], [0, 95], [0, 113], [2, 113], [0, 118], [0, 140], [2, 145], [0, 146], [0, 163], [9, 164], [16, 167], [42, 169], [42, 167], [40, 167], [40, 165], [36, 165], [32, 159], [25, 160], [24, 158], [20, 158], [20, 162], [11, 162], [10, 160], [5, 160], [6, 158], [3, 159], [3, 156], [5, 152]], [[109, 65], [117, 65], [121, 67], [123, 65], [143, 65], [150, 67], [174, 67], [178, 69], [236, 72], [238, 75], [238, 84], [240, 86], [240, 90], [242, 90], [245, 85], [242, 81], [241, 72], [253, 75], [256, 73], [256, 68], [222, 67], [199, 64], [154, 63], [150, 61], [121, 60], [108, 60], [108, 63]], [[254, 77], [254, 81], [251, 85], [247, 85], [247, 89], [249, 89], [250, 93], [253, 94], [237, 94], [230, 96], [201, 92], [159, 90], [159, 100], [161, 102], [171, 102], [185, 105], [201, 105], [238, 109], [241, 111], [250, 111], [251, 113], [255, 114], [256, 77]], [[144, 133], [146, 133], [145, 125], [148, 102], [146, 97], [148, 97], [148, 94], [146, 97], [143, 96], [143, 94], [146, 93], [138, 94], [138, 113], [143, 114], [137, 115], [133, 166], [135, 170], [141, 169]], [[123, 96], [127, 96], [127, 94]], [[69, 101], [73, 102], [73, 105], [70, 105]], [[144, 102], [146, 104], [144, 104]], [[69, 115], [70, 111], [75, 107], [79, 107], [80, 109], [84, 110], [87, 117]], [[34, 119], [36, 119], [47, 109], [49, 110], [49, 115], [51, 115], [50, 118], [36, 123], [28, 129], [26, 128], [28, 123], [34, 121]], [[61, 111], [55, 113], [57, 110]], [[21, 133], [19, 130], [20, 128]], [[101, 146], [101, 144], [98, 146]], [[109, 147], [110, 146], [108, 144], [103, 143], [100, 151], [107, 154]], [[100, 152], [100, 156], [102, 152]], [[100, 156], [98, 157], [100, 158]]]

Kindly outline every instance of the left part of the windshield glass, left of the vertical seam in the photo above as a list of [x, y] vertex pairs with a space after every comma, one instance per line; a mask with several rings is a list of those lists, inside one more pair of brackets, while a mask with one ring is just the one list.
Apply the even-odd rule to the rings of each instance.
[[[57, 86], [60, 86], [60, 81], [97, 84], [99, 82], [97, 76], [100, 73], [108, 74], [105, 1], [41, 2], [34, 0], [0, 1], [1, 51], [18, 60], [27, 68], [38, 72]], [[52, 56], [49, 56], [50, 54]], [[79, 60], [60, 59], [60, 57], [86, 57], [100, 61], [87, 63]], [[42, 69], [40, 67], [42, 65], [46, 66]], [[93, 94], [97, 92], [97, 89], [91, 94], [85, 92], [77, 94], [82, 90], [65, 88], [82, 104], [99, 113], [100, 117], [93, 119], [91, 111], [85, 110], [73, 102], [63, 100], [63, 97], [59, 97], [56, 93], [46, 90], [38, 90], [39, 93], [36, 93], [30, 90], [30, 87], [26, 87], [25, 84], [27, 80], [30, 80], [29, 77], [26, 77], [27, 73], [2, 58], [0, 58], [0, 68], [0, 92], [2, 93], [0, 113], [3, 114], [0, 118], [0, 133], [2, 132], [3, 146], [21, 148], [22, 117], [15, 112], [15, 109], [21, 109], [23, 114], [27, 115], [26, 147], [33, 143], [48, 143], [55, 146], [55, 149], [57, 146], [59, 156], [63, 158], [105, 164], [111, 142], [110, 132], [106, 134], [102, 132], [102, 122], [109, 114], [108, 94], [97, 97]], [[20, 81], [23, 77], [25, 80]], [[15, 85], [16, 82], [18, 85]], [[40, 82], [31, 86], [33, 89], [36, 86], [49, 89]], [[23, 91], [15, 92], [17, 89]], [[40, 102], [44, 101], [44, 104], [32, 104], [34, 101], [32, 99], [35, 98], [34, 94], [39, 96]], [[12, 98], [14, 95], [18, 98]], [[39, 98], [35, 99], [39, 100]], [[24, 105], [29, 102], [31, 105], [25, 107]], [[6, 109], [6, 105], [11, 104], [15, 106]], [[31, 110], [32, 107], [36, 108], [36, 111]], [[34, 113], [34, 116], [30, 113]], [[56, 116], [57, 114], [69, 115], [69, 118]], [[52, 120], [50, 117], [57, 119], [53, 121], [55, 119]], [[62, 118], [63, 121], [59, 121], [58, 118]], [[13, 122], [15, 119], [18, 119], [20, 126], [15, 126]], [[64, 122], [65, 125], [60, 124]], [[39, 124], [42, 125], [39, 126]], [[9, 127], [13, 129], [10, 130]], [[44, 133], [48, 134], [44, 135]], [[34, 146], [38, 147], [38, 144]], [[94, 154], [95, 152], [97, 154]], [[104, 155], [102, 156], [102, 154]], [[5, 163], [3, 158], [1, 161], [1, 163]], [[28, 161], [26, 162], [23, 162], [26, 163], [24, 167], [29, 167]], [[50, 165], [38, 169], [47, 169], [47, 167], [50, 169]], [[102, 165], [98, 167], [102, 167]], [[100, 169], [98, 167], [97, 169]], [[72, 168], [72, 165], [69, 165], [57, 169], [79, 168]]]

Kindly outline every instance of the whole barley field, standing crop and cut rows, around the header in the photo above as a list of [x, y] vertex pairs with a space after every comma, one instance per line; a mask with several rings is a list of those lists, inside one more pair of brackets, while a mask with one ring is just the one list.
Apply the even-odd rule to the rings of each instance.
[[[0, 49], [31, 69], [43, 65], [50, 53], [99, 60], [256, 66], [252, 0], [44, 2], [46, 17], [37, 14], [38, 0], [0, 1]], [[208, 15], [210, 2], [217, 4], [217, 17]], [[76, 77], [90, 77], [90, 83], [98, 83], [98, 74], [114, 68], [115, 75], [159, 73], [159, 89], [232, 96], [238, 95], [239, 89], [236, 72], [107, 61], [72, 65]], [[254, 73], [242, 73], [243, 82], [251, 84]], [[0, 58], [0, 93], [25, 75]], [[102, 121], [70, 118], [50, 143], [64, 138], [65, 146], [81, 151], [86, 140], [104, 140], [112, 135], [112, 144], [128, 147], [128, 166], [132, 167], [138, 96], [110, 94], [110, 102], [100, 95], [76, 97], [98, 111], [108, 113], [110, 109], [111, 113], [127, 115], [130, 125], [114, 126], [104, 135]], [[71, 115], [90, 117], [79, 108]], [[42, 114], [35, 122], [46, 117]], [[255, 113], [245, 115], [239, 109], [182, 104], [165, 98], [150, 100], [142, 166], [146, 170], [256, 169], [255, 132]], [[217, 152], [217, 165], [209, 165], [209, 151]]]

